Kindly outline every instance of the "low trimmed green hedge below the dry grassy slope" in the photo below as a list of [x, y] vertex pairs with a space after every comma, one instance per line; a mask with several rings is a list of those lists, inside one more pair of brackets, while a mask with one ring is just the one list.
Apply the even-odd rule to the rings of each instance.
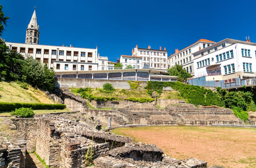
[[0, 111], [12, 111], [16, 108], [32, 108], [33, 110], [54, 110], [54, 109], [64, 109], [66, 105], [64, 104], [42, 104], [42, 103], [7, 103], [0, 102]]

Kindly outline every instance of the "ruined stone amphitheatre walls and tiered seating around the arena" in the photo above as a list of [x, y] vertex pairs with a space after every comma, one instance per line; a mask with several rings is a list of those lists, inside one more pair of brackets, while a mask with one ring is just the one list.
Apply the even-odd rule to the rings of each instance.
[[[130, 137], [110, 133], [110, 129], [245, 126], [230, 109], [196, 107], [176, 99], [158, 99], [150, 103], [92, 100], [94, 108], [89, 108], [85, 99], [69, 91], [68, 83], [59, 81], [59, 84], [58, 92], [48, 96], [55, 102], [64, 103], [70, 112], [36, 114], [34, 118], [1, 117], [8, 129], [1, 130], [0, 168], [25, 168], [26, 153], [32, 151], [50, 168], [83, 168], [90, 150], [94, 167], [99, 168], [221, 168], [207, 166], [207, 160], [171, 158], [154, 144], [136, 143]], [[251, 125], [246, 126], [255, 127], [255, 117], [249, 120]], [[102, 129], [102, 123], [107, 123], [108, 129]]]

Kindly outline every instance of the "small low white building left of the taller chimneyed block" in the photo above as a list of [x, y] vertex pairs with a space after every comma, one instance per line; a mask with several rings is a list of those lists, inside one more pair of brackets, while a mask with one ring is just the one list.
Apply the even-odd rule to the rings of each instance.
[[131, 55], [121, 55], [120, 62], [123, 64], [123, 69], [128, 65], [131, 65], [133, 69], [142, 69], [142, 57], [141, 56], [131, 56]]

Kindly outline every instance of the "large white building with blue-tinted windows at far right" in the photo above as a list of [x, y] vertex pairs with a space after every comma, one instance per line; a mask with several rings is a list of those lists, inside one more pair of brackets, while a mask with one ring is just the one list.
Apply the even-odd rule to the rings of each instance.
[[[195, 77], [231, 83], [256, 76], [256, 43], [224, 39], [193, 53]], [[239, 79], [239, 80], [237, 80]]]

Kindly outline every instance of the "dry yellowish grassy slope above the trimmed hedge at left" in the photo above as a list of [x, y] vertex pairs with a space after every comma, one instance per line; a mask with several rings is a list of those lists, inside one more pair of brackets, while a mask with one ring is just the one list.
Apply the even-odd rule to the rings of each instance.
[[54, 104], [44, 92], [31, 86], [28, 90], [15, 82], [0, 82], [0, 102]]

